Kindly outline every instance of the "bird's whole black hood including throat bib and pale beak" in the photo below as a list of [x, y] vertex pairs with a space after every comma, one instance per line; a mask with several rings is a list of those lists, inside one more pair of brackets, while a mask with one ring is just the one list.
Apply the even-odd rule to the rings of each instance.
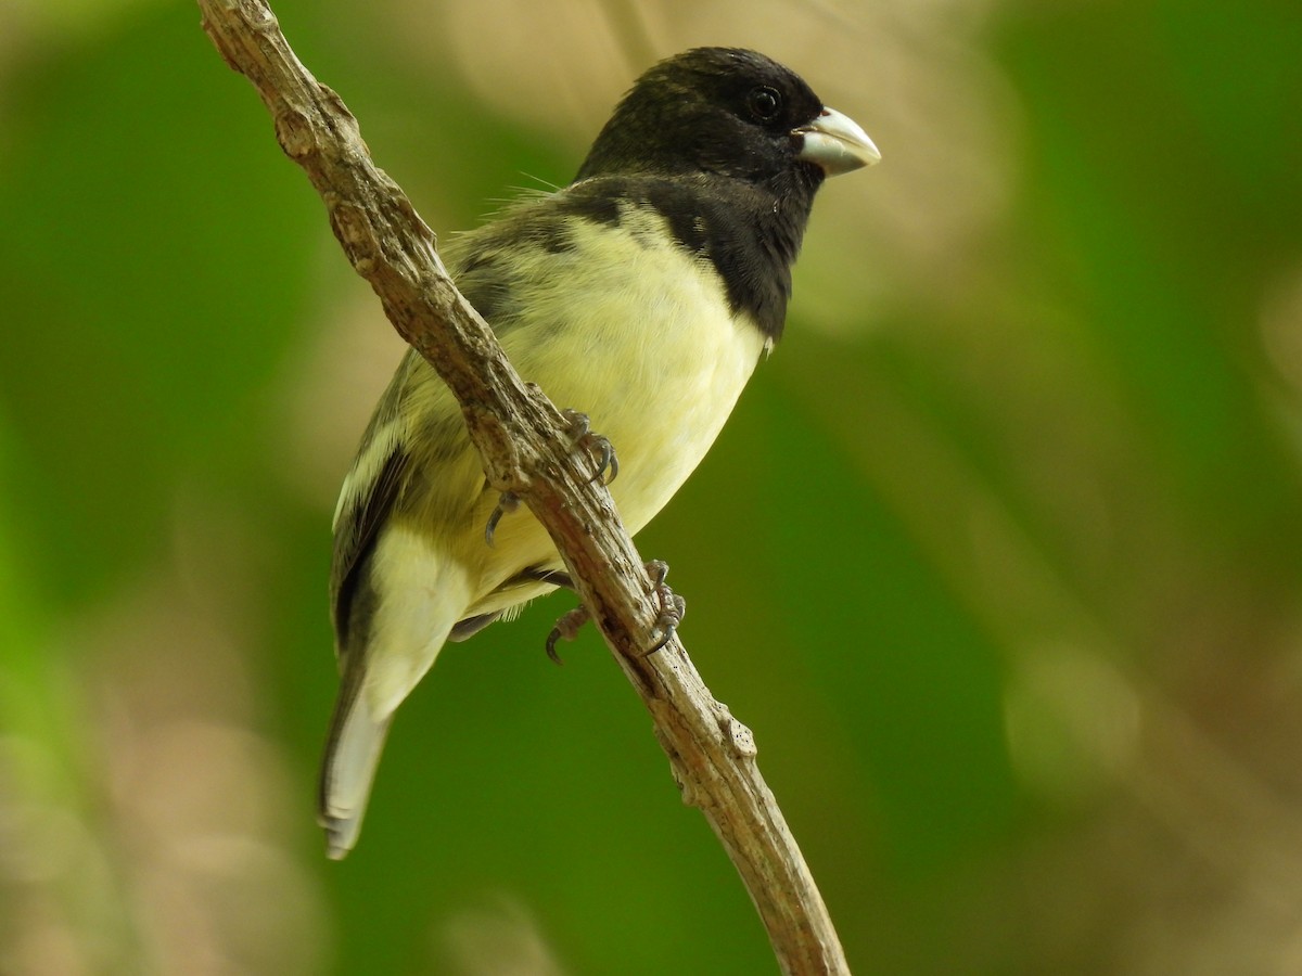
[[798, 74], [754, 51], [703, 47], [643, 74], [592, 143], [564, 206], [618, 223], [650, 207], [707, 258], [733, 311], [772, 340], [823, 178], [880, 159]]

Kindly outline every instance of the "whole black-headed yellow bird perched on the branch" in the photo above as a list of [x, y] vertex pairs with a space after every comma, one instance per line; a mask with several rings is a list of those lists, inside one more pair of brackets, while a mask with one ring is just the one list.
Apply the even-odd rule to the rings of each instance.
[[[781, 336], [814, 193], [879, 159], [789, 69], [698, 48], [637, 81], [574, 182], [445, 249], [519, 375], [615, 445], [611, 492], [630, 532], [697, 467]], [[565, 579], [526, 509], [499, 513], [486, 541], [497, 505], [456, 400], [408, 350], [335, 511], [331, 858], [357, 842], [393, 713], [444, 643]]]

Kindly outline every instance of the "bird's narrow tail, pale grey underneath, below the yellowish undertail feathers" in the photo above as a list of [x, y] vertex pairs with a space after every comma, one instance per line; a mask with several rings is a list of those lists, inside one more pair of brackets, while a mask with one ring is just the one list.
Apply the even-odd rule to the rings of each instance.
[[362, 830], [375, 768], [384, 751], [393, 713], [376, 718], [361, 694], [361, 681], [346, 681], [331, 718], [322, 763], [318, 820], [326, 828], [326, 852], [340, 860], [353, 850]]

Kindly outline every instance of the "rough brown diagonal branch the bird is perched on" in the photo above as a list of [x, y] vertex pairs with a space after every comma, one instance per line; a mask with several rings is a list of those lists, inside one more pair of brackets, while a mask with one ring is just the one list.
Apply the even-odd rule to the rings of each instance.
[[566, 420], [506, 362], [444, 271], [434, 233], [371, 161], [357, 120], [298, 61], [266, 4], [199, 0], [199, 8], [204, 31], [253, 82], [281, 148], [320, 194], [353, 268], [461, 402], [488, 481], [518, 495], [551, 534], [651, 712], [684, 800], [702, 809], [741, 872], [783, 971], [848, 973], [814, 878], [755, 765], [750, 730], [713, 699], [677, 639], [644, 653], [660, 612], [652, 583], [609, 493], [590, 480], [591, 459], [572, 446]]

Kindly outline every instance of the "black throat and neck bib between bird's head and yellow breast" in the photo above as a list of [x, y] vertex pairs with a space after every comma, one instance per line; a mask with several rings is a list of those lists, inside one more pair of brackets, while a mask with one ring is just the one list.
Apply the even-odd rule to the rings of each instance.
[[564, 197], [569, 212], [611, 225], [620, 225], [628, 206], [654, 210], [681, 247], [715, 267], [733, 314], [747, 314], [776, 342], [822, 182], [822, 169], [797, 164], [763, 183], [708, 173], [599, 176], [575, 182]]

